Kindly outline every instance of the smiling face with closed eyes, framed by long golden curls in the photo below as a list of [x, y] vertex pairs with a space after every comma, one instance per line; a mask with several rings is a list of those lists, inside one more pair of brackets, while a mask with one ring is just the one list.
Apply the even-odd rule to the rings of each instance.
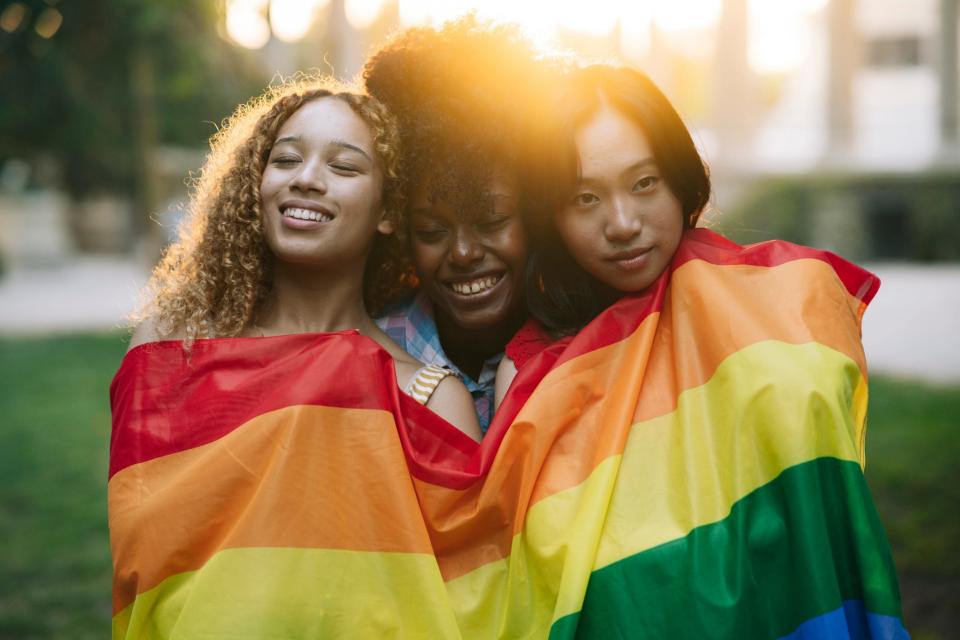
[[344, 101], [319, 98], [280, 127], [260, 181], [267, 245], [277, 260], [359, 269], [390, 233], [373, 136]]

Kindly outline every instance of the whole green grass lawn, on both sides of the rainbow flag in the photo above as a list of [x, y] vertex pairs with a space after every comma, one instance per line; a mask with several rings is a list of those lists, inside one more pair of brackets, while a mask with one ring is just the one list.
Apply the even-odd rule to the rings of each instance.
[[[105, 638], [119, 334], [0, 339], [0, 639]], [[960, 388], [874, 376], [867, 478], [916, 640], [960, 637]]]

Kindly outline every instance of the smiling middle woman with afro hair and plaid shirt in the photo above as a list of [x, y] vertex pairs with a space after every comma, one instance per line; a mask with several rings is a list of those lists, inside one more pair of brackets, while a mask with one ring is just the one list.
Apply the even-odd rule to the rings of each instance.
[[417, 359], [462, 376], [484, 431], [504, 345], [526, 320], [524, 218], [549, 175], [552, 75], [515, 26], [474, 16], [404, 30], [363, 70], [400, 122], [419, 284], [377, 322]]

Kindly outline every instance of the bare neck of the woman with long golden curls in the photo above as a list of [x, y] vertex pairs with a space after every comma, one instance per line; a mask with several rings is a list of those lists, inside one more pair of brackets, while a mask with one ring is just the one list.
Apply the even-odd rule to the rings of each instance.
[[273, 286], [256, 324], [265, 335], [347, 329], [367, 334], [373, 321], [363, 306], [363, 274], [275, 264]]

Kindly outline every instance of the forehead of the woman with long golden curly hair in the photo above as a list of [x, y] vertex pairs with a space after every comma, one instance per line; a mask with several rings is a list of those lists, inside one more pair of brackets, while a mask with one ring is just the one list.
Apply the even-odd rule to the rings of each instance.
[[338, 98], [311, 100], [293, 112], [280, 127], [277, 138], [296, 136], [315, 144], [344, 140], [368, 151], [373, 148], [370, 127]]

